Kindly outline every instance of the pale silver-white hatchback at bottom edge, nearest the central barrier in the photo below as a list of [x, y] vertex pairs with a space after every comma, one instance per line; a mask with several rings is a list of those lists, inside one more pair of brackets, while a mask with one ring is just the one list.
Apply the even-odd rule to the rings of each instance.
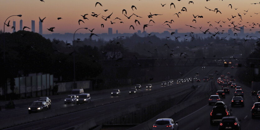
[[178, 130], [178, 122], [174, 122], [170, 118], [157, 119], [152, 130]]

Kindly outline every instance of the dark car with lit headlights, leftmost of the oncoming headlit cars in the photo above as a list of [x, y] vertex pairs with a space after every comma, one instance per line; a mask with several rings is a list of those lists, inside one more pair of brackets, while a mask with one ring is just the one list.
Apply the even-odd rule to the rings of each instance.
[[45, 101], [35, 101], [28, 108], [29, 114], [43, 112], [48, 110], [48, 105]]

